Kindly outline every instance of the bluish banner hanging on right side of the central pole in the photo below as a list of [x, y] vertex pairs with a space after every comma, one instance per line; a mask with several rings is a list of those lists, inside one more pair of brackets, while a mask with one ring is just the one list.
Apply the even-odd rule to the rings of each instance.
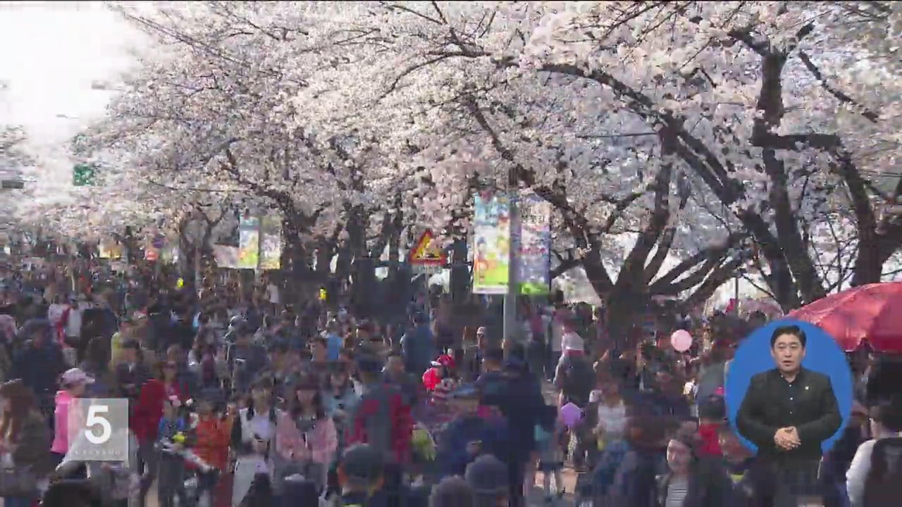
[[520, 200], [520, 293], [548, 294], [551, 271], [551, 204], [536, 194]]

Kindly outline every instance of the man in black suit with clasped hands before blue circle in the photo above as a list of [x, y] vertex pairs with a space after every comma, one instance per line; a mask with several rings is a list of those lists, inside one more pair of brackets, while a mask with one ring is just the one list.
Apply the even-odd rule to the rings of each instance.
[[842, 424], [830, 377], [802, 367], [805, 343], [798, 326], [774, 330], [770, 355], [777, 368], [751, 377], [736, 416], [740, 434], [778, 474], [778, 497], [787, 500], [816, 493], [821, 443]]

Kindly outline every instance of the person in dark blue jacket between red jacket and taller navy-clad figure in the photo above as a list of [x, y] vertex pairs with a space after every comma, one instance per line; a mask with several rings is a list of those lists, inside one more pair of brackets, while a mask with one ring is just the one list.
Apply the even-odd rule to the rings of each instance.
[[466, 466], [484, 454], [504, 461], [510, 454], [504, 419], [480, 417], [479, 392], [471, 385], [451, 392], [449, 399], [457, 405], [460, 415], [452, 419], [438, 437], [439, 479], [463, 476]]

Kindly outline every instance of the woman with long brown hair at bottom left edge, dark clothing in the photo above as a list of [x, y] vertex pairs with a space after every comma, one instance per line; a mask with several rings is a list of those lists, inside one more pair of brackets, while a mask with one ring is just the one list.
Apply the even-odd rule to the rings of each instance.
[[35, 501], [37, 480], [53, 469], [50, 444], [32, 391], [18, 380], [0, 384], [0, 461], [22, 484], [34, 486], [33, 491], [5, 492], [4, 507], [30, 507]]

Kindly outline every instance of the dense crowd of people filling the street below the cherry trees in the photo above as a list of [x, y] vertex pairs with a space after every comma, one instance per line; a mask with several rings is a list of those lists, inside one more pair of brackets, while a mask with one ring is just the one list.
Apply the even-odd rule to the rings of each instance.
[[[681, 319], [698, 339], [677, 352], [639, 332], [608, 336], [602, 308], [559, 295], [523, 300], [502, 340], [491, 311], [451, 336], [422, 300], [387, 320], [216, 290], [11, 286], [0, 301], [5, 507], [897, 504], [894, 357], [850, 355], [857, 401], [811, 503], [790, 503], [742, 444], [723, 389], [761, 314]], [[68, 456], [69, 407], [83, 398], [129, 401], [128, 460]]]

